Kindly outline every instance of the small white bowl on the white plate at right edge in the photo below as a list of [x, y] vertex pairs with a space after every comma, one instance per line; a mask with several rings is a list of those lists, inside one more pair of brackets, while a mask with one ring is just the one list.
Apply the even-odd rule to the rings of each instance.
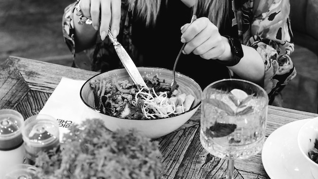
[[318, 179], [318, 164], [312, 161], [308, 152], [314, 146], [315, 139], [318, 139], [318, 117], [306, 122], [299, 130], [297, 136], [297, 143], [302, 157], [305, 159], [312, 176]]

